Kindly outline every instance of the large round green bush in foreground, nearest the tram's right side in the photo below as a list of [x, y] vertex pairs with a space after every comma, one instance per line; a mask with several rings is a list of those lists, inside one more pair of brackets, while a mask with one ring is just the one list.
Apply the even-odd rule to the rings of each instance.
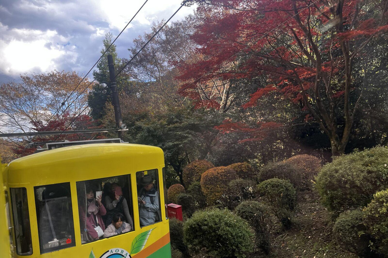
[[245, 257], [252, 251], [253, 234], [247, 222], [228, 210], [199, 211], [183, 225], [185, 242], [213, 257]]

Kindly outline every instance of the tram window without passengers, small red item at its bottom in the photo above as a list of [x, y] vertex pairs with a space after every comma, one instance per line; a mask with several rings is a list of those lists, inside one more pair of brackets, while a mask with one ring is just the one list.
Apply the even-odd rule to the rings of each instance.
[[40, 253], [75, 246], [70, 183], [35, 186]]

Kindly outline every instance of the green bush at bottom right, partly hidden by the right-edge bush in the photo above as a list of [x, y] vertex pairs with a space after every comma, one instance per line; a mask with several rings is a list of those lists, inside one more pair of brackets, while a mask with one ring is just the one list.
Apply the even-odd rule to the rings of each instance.
[[361, 257], [368, 257], [371, 252], [368, 247], [370, 237], [365, 232], [363, 213], [360, 209], [341, 213], [333, 227], [337, 241], [345, 249]]

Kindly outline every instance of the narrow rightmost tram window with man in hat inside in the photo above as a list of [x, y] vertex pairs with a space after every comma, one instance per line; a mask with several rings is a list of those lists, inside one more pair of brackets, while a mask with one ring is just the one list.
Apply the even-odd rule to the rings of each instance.
[[140, 226], [161, 221], [158, 169], [136, 172]]

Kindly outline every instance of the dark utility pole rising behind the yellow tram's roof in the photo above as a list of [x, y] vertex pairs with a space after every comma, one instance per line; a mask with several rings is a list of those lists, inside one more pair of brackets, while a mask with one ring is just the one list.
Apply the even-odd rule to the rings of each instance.
[[115, 119], [116, 119], [116, 127], [118, 130], [118, 137], [123, 140], [123, 127], [126, 127], [125, 124], [123, 125], [123, 118], [121, 117], [121, 108], [120, 108], [120, 102], [119, 102], [119, 93], [117, 91], [117, 85], [116, 85], [116, 78], [115, 78], [115, 66], [113, 64], [113, 56], [111, 54], [108, 55], [108, 67], [109, 67], [109, 77], [110, 77], [110, 88], [112, 91], [112, 104], [113, 108], [115, 109]]

